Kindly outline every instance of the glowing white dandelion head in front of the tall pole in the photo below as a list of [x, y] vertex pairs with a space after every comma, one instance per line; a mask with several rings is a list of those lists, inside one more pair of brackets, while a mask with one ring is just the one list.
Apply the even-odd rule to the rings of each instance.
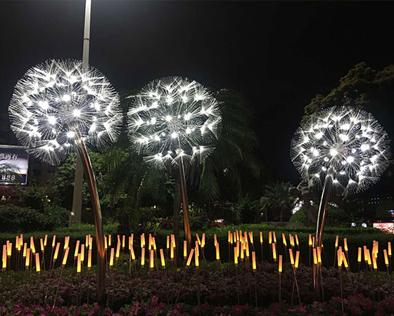
[[75, 151], [76, 136], [98, 150], [117, 139], [120, 99], [108, 79], [78, 60], [47, 60], [15, 85], [8, 108], [11, 129], [27, 150], [60, 164]]

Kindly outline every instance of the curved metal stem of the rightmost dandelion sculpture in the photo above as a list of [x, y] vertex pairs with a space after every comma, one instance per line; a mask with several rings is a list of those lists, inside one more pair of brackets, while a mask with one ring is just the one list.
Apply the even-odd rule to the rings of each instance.
[[[323, 229], [324, 229], [324, 218], [326, 217], [327, 204], [329, 203], [329, 197], [333, 185], [333, 178], [330, 173], [327, 174], [324, 180], [324, 187], [322, 192], [322, 199], [320, 199], [319, 213], [317, 214], [317, 228], [316, 237], [314, 240], [314, 246], [322, 249], [323, 242]], [[314, 274], [314, 291], [317, 300], [320, 300], [322, 295], [322, 274], [321, 265], [316, 265], [316, 273]]]

